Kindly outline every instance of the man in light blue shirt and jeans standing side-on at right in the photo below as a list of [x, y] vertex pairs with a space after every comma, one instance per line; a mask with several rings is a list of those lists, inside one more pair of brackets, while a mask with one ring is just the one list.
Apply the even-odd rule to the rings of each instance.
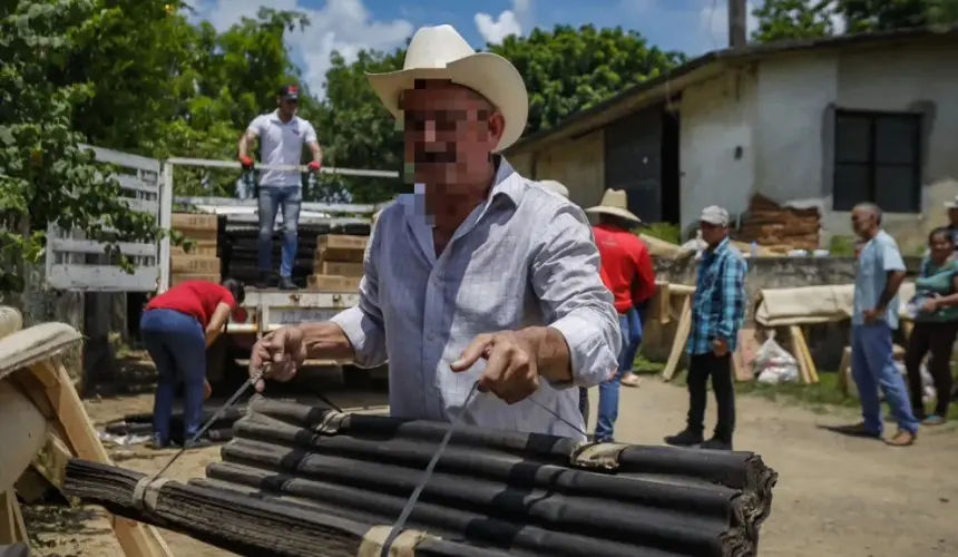
[[870, 203], [856, 206], [851, 223], [866, 242], [858, 257], [851, 317], [851, 369], [863, 421], [845, 428], [844, 432], [881, 438], [880, 388], [898, 422], [898, 432], [886, 442], [906, 447], [915, 442], [918, 420], [905, 380], [892, 361], [891, 344], [891, 332], [898, 329], [898, 287], [905, 280], [905, 262], [895, 238], [881, 229], [878, 206]]

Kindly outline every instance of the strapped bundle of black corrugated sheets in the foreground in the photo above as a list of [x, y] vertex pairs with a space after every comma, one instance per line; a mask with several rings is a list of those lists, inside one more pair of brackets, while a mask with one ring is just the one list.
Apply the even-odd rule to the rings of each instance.
[[[449, 424], [254, 397], [187, 485], [74, 460], [66, 492], [256, 556], [379, 556]], [[776, 473], [751, 452], [459, 426], [390, 555], [754, 556]], [[143, 489], [137, 491], [143, 492]]]

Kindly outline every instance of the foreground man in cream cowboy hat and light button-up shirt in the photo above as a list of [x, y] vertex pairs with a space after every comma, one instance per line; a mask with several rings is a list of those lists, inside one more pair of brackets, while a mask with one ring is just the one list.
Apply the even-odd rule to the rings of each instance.
[[499, 155], [526, 126], [522, 77], [439, 26], [369, 81], [402, 123], [416, 193], [380, 215], [359, 304], [264, 336], [251, 373], [389, 360], [393, 416], [585, 440], [569, 388], [607, 379], [618, 321], [585, 214]]

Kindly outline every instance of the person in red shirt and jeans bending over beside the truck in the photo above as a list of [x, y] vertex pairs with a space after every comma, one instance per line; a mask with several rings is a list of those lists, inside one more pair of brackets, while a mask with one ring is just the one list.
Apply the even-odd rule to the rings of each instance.
[[[139, 331], [149, 358], [156, 364], [153, 403], [153, 446], [169, 447], [169, 422], [176, 384], [183, 381], [184, 440], [202, 427], [203, 400], [208, 395], [206, 348], [213, 343], [229, 314], [245, 297], [243, 283], [233, 278], [216, 284], [186, 281], [146, 304]], [[197, 442], [193, 447], [206, 444]]]

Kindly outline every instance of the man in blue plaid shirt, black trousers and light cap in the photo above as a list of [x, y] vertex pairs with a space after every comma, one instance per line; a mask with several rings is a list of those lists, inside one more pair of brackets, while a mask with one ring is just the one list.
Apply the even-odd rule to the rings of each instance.
[[[688, 424], [681, 433], [665, 438], [678, 447], [732, 450], [735, 429], [735, 391], [732, 384], [732, 353], [745, 316], [745, 260], [729, 241], [729, 212], [711, 206], [700, 217], [702, 240], [708, 244], [698, 264], [692, 299], [692, 331], [688, 336]], [[703, 442], [706, 382], [718, 405], [715, 434]]]

